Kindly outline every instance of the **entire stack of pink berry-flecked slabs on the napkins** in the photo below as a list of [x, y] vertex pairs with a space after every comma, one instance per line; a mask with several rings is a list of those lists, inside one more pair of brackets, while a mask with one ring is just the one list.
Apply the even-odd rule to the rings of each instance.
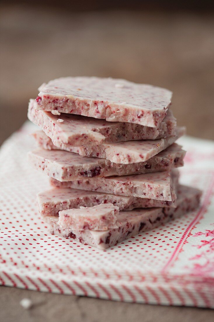
[[172, 92], [96, 77], [39, 90], [28, 161], [50, 177], [37, 197], [52, 234], [105, 249], [198, 206], [201, 192], [178, 183], [185, 128], [169, 109]]

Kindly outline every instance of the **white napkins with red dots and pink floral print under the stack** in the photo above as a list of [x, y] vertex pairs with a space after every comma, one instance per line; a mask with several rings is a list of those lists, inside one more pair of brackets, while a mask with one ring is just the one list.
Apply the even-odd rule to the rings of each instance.
[[105, 251], [49, 235], [36, 194], [48, 177], [27, 164], [30, 122], [0, 150], [0, 283], [119, 301], [214, 307], [214, 143], [183, 137], [181, 183], [203, 190], [197, 211]]

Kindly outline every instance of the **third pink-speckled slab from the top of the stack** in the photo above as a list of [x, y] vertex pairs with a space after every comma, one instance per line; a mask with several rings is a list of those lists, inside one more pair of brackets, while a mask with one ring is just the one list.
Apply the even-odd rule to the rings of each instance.
[[131, 164], [146, 161], [160, 151], [172, 145], [184, 134], [184, 128], [177, 128], [175, 135], [158, 140], [127, 141], [117, 143], [101, 143], [93, 146], [68, 147], [62, 145], [61, 148], [53, 146], [50, 139], [44, 134], [34, 133], [39, 145], [43, 148], [62, 149], [69, 152], [78, 153], [81, 156], [94, 156], [110, 160], [113, 163]]

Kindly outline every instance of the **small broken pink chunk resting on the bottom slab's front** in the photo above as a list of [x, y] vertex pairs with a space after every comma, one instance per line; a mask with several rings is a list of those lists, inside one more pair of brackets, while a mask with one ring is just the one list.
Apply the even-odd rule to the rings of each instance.
[[58, 225], [63, 228], [74, 230], [99, 230], [117, 228], [116, 218], [119, 207], [113, 204], [99, 204], [94, 207], [80, 207], [59, 212]]

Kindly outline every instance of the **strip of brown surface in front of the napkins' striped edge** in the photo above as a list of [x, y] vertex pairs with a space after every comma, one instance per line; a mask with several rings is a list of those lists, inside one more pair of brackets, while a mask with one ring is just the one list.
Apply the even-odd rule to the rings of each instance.
[[[19, 304], [30, 298], [30, 310]], [[0, 287], [3, 322], [212, 322], [214, 310], [124, 303]]]

